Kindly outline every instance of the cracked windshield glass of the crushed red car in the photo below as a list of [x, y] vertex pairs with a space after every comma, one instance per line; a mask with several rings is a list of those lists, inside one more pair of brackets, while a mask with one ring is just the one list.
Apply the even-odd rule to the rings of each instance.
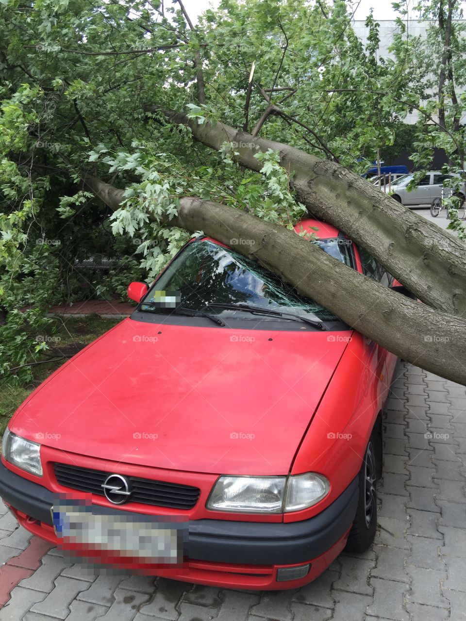
[[[339, 245], [331, 254], [339, 253], [340, 261], [346, 262], [347, 248]], [[278, 276], [262, 268], [235, 250], [229, 250], [208, 240], [190, 243], [168, 265], [148, 297], [140, 306], [141, 311], [167, 312], [154, 308], [157, 291], [180, 292], [180, 304], [193, 311], [205, 310], [208, 304], [254, 304], [264, 309], [317, 315], [319, 319], [335, 321], [338, 318], [322, 306], [301, 296], [296, 289], [283, 283]], [[221, 317], [251, 319], [252, 315], [239, 309], [209, 308], [209, 313]]]

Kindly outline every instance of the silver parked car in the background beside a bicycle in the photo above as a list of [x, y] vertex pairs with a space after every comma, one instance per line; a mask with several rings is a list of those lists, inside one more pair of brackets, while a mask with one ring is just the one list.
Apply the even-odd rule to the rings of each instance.
[[[408, 190], [409, 182], [413, 179], [414, 175], [404, 175], [396, 179], [395, 183], [391, 185], [391, 194], [395, 201], [401, 202], [408, 207], [417, 205], [431, 205], [432, 201], [436, 198], [447, 196], [451, 190], [444, 188], [444, 181], [452, 179], [453, 177], [460, 175], [444, 175], [438, 170], [431, 170], [419, 181], [417, 188]], [[381, 191], [388, 192], [388, 186], [381, 188]], [[462, 202], [465, 199], [464, 186], [457, 193]]]

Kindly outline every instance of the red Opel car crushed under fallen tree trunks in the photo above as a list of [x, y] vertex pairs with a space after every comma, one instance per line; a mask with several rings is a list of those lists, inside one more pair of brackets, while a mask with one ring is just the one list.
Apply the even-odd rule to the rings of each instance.
[[[334, 227], [301, 227], [393, 286]], [[132, 315], [11, 419], [0, 495], [20, 524], [99, 563], [244, 589], [365, 550], [396, 357], [207, 237], [128, 291]]]

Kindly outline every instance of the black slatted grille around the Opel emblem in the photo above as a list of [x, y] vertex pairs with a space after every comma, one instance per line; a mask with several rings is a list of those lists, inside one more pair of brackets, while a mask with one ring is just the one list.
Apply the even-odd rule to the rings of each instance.
[[[55, 477], [63, 487], [71, 487], [81, 492], [104, 496], [101, 487], [110, 472], [78, 468], [69, 464], [55, 463], [53, 465]], [[136, 476], [125, 477], [132, 490], [129, 502], [171, 507], [173, 509], [192, 509], [198, 502], [201, 493], [198, 487], [165, 483], [153, 479], [140, 479]]]

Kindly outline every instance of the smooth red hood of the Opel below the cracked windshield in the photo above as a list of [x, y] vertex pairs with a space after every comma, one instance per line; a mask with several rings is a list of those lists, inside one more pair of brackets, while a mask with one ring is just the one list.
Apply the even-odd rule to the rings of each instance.
[[345, 340], [126, 319], [45, 381], [10, 427], [112, 461], [286, 474]]

